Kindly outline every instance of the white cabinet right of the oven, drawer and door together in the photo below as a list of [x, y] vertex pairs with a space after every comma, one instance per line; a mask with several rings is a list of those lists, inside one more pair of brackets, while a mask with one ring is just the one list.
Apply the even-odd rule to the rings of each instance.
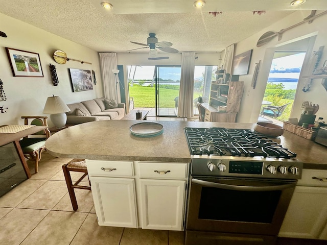
[[303, 169], [278, 236], [327, 240], [327, 170]]

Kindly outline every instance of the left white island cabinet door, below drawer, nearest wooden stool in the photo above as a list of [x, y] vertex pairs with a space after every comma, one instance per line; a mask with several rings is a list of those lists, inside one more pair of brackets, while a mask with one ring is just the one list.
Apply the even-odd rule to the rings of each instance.
[[135, 180], [90, 177], [100, 226], [137, 228]]

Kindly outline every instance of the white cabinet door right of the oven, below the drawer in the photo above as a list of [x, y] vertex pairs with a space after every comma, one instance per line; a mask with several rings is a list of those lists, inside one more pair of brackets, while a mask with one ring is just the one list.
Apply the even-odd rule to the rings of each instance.
[[326, 221], [327, 188], [297, 186], [279, 236], [317, 239]]

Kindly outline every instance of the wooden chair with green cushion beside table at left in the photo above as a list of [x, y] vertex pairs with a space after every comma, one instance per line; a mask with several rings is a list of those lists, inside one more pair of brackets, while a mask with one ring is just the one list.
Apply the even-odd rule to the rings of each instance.
[[[21, 118], [24, 119], [25, 125], [48, 127], [48, 122], [46, 121], [48, 116], [22, 116]], [[31, 124], [29, 124], [29, 119]], [[50, 131], [46, 128], [19, 141], [24, 156], [31, 161], [35, 161], [35, 173], [38, 173], [39, 161], [41, 160], [43, 150], [45, 150], [45, 140], [49, 137]]]

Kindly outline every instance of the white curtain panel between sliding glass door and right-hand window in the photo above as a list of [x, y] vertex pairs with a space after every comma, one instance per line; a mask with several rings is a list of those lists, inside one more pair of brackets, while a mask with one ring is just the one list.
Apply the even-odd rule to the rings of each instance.
[[194, 52], [182, 52], [178, 116], [193, 117]]

